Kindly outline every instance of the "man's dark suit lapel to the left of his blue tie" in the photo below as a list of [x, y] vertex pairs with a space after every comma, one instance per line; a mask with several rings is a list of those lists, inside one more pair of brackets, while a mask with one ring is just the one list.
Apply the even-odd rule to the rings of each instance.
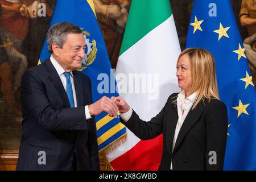
[[56, 69], [53, 67], [51, 60], [47, 59], [44, 61], [44, 64], [46, 65], [47, 71], [49, 73], [49, 78], [58, 90], [60, 98], [63, 100], [65, 107], [70, 107], [67, 93], [65, 92], [64, 86], [60, 80], [60, 76], [58, 75]]

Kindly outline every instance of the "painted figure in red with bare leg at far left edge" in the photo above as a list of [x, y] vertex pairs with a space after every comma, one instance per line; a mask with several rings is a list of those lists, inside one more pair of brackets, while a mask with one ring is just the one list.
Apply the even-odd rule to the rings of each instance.
[[18, 70], [14, 76], [14, 92], [19, 88], [20, 79], [27, 69], [27, 57], [21, 51], [22, 41], [28, 33], [28, 18], [36, 18], [39, 1], [0, 0], [2, 16], [0, 18], [0, 35], [10, 63], [17, 63]]

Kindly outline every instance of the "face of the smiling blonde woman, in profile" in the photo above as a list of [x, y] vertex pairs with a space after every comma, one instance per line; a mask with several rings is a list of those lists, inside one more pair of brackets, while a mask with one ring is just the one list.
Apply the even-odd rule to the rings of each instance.
[[180, 57], [177, 63], [177, 72], [176, 76], [178, 79], [178, 86], [186, 93], [189, 91], [189, 86], [191, 86], [191, 65], [189, 57], [187, 54]]

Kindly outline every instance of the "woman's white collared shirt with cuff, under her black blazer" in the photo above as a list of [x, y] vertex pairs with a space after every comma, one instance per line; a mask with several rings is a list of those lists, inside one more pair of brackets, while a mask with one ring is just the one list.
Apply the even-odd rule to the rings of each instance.
[[[172, 150], [174, 150], [174, 146], [179, 135], [181, 126], [187, 117], [189, 110], [193, 106], [196, 100], [196, 92], [191, 94], [189, 97], [185, 98], [185, 92], [181, 91], [177, 96], [177, 112], [178, 112], [178, 121], [174, 133], [174, 141], [172, 143]], [[183, 113], [183, 114], [182, 114]], [[133, 114], [133, 109], [127, 111], [126, 113], [120, 114], [121, 118], [124, 122], [127, 122], [131, 118], [131, 114]], [[171, 162], [171, 169], [172, 169], [172, 162]]]

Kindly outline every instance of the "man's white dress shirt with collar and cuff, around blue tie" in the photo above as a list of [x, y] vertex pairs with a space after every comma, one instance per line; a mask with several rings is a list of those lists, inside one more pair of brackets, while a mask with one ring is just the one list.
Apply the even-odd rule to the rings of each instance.
[[[67, 91], [67, 78], [64, 75], [65, 70], [60, 66], [60, 64], [54, 59], [53, 56], [50, 57], [50, 60], [53, 64], [53, 67], [56, 69], [58, 75], [60, 76], [60, 80], [64, 86], [65, 91]], [[77, 107], [77, 100], [76, 100], [76, 88], [74, 84], [74, 78], [73, 78], [73, 72], [71, 73], [71, 84], [72, 84], [72, 90], [73, 90], [73, 97], [74, 97], [74, 104], [75, 107]], [[92, 118], [88, 109], [88, 106], [85, 106], [85, 117], [86, 120]]]

